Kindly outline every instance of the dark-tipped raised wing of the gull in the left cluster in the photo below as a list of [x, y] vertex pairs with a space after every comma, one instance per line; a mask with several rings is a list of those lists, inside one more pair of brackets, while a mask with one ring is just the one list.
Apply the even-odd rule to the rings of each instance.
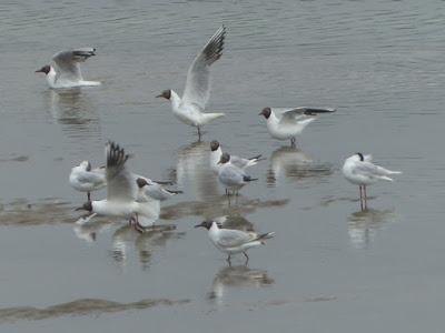
[[135, 200], [136, 182], [132, 174], [125, 168], [129, 155], [115, 142], [107, 143], [106, 155], [107, 200]]

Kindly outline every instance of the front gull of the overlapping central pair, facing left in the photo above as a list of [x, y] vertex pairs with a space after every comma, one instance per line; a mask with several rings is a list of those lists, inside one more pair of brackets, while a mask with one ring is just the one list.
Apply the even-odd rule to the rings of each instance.
[[230, 194], [230, 190], [234, 194], [238, 194], [239, 189], [251, 181], [258, 180], [257, 178], [251, 178], [243, 169], [234, 165], [230, 162], [230, 155], [228, 153], [222, 153], [219, 162], [221, 168], [218, 171], [218, 180], [226, 188], [227, 195]]

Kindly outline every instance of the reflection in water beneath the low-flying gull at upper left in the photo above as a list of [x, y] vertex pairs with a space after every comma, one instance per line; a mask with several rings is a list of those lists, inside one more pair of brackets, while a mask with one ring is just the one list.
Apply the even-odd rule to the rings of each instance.
[[100, 119], [96, 107], [81, 89], [48, 90], [46, 101], [51, 118], [70, 139], [101, 142]]

